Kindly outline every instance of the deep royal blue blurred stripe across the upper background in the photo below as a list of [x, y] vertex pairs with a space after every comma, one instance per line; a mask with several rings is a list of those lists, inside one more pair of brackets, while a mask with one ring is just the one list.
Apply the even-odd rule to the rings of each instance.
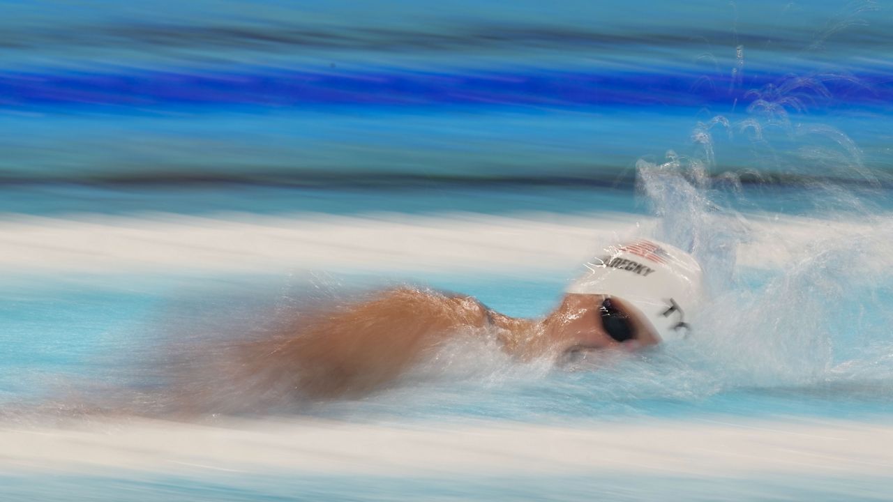
[[[889, 107], [893, 73], [795, 76], [685, 71], [47, 71], [0, 72], [0, 106], [546, 105], [704, 106], [797, 98]], [[789, 106], [789, 104], [788, 104]]]

